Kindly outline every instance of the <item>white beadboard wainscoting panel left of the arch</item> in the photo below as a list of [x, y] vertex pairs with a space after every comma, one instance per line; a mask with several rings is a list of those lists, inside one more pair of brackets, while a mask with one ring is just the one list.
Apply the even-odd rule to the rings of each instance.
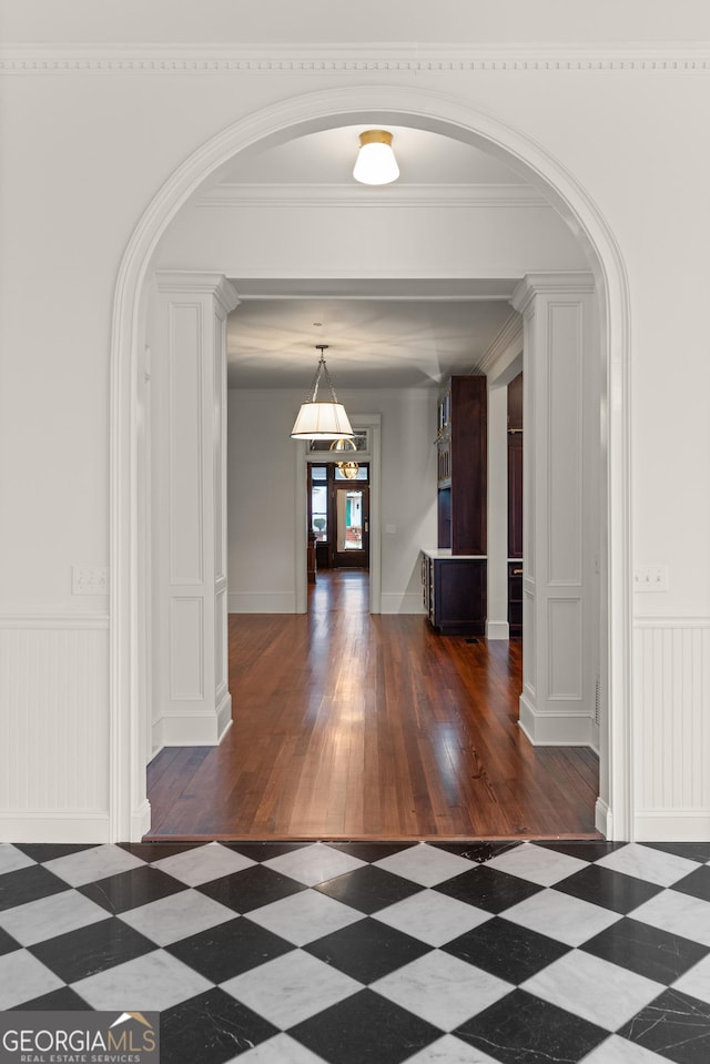
[[105, 842], [109, 622], [0, 616], [0, 842]]

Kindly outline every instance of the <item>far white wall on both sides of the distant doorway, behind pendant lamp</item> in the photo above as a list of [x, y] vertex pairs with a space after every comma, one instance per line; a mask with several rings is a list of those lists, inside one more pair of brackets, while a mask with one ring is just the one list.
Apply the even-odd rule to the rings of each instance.
[[[418, 554], [436, 545], [436, 388], [338, 389], [348, 414], [382, 415], [382, 611], [422, 612]], [[296, 608], [296, 445], [303, 391], [231, 389], [230, 610]], [[385, 531], [394, 526], [395, 531]]]

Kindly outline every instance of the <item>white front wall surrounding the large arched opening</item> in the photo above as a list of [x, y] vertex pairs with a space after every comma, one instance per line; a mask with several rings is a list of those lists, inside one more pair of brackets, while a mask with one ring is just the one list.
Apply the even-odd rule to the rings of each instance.
[[[702, 763], [710, 760], [710, 739], [687, 692], [710, 675], [710, 493], [702, 490], [710, 453], [708, 6], [599, 2], [594, 24], [586, 7], [582, 14], [554, 0], [443, 3], [436, 20], [430, 10], [415, 0], [392, 9], [367, 3], [356, 33], [374, 43], [357, 45], [349, 11], [315, 0], [305, 13], [275, 0], [239, 12], [224, 0], [179, 9], [164, 0], [68, 0], [61, 10], [48, 0], [3, 3], [0, 612], [8, 739], [0, 779], [14, 779], [16, 766], [27, 773], [2, 798], [0, 837], [93, 840], [110, 830], [115, 789], [67, 790], [68, 771], [95, 770], [105, 780], [111, 733], [110, 607], [104, 595], [73, 595], [71, 569], [110, 560], [109, 354], [131, 235], [164, 182], [211, 136], [262, 108], [353, 85], [459, 100], [520, 131], [574, 176], [613, 233], [631, 311], [631, 561], [669, 571], [667, 591], [633, 599], [635, 828], [647, 838], [659, 824], [668, 838], [707, 834], [710, 799], [691, 782], [698, 751]], [[390, 40], [404, 29], [414, 36], [410, 45], [382, 44], [393, 22]], [[316, 43], [278, 53], [267, 43], [273, 27], [286, 42], [293, 33]], [[191, 47], [207, 32], [237, 43]], [[40, 33], [43, 43], [27, 44]], [[427, 37], [459, 43], [434, 49]], [[585, 43], [595, 38], [599, 45]], [[317, 44], [327, 39], [341, 43]], [[109, 43], [58, 43], [72, 40]], [[261, 44], [250, 50], [250, 40]], [[426, 244], [405, 246], [414, 275], [427, 275]], [[403, 257], [393, 251], [395, 267]], [[240, 251], [236, 263], [243, 261]], [[257, 264], [281, 270], [275, 257]], [[619, 397], [612, 381], [610, 403]], [[409, 561], [398, 568], [392, 555], [390, 586], [400, 588]], [[40, 635], [47, 626], [51, 639]], [[79, 666], [61, 677], [61, 691], [53, 686], [65, 626], [78, 632], [72, 660], [90, 662], [90, 696]], [[662, 673], [652, 671], [659, 662]], [[63, 722], [62, 733], [77, 734], [80, 707], [92, 727], [68, 768], [55, 757], [52, 729]], [[670, 763], [669, 734], [680, 743]]]

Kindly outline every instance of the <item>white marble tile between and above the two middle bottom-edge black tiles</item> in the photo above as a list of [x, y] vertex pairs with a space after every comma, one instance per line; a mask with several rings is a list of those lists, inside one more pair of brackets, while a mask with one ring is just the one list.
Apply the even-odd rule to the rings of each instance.
[[453, 1031], [514, 989], [438, 950], [371, 983], [371, 990], [444, 1031]]

